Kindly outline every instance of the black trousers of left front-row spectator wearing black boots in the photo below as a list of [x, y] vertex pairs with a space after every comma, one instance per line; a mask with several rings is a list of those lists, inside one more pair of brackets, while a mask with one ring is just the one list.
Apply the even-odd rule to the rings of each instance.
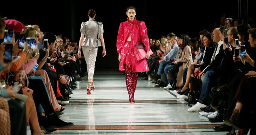
[[33, 99], [36, 108], [38, 108], [39, 104], [42, 105], [44, 112], [46, 115], [54, 113], [54, 109], [50, 103], [48, 98], [48, 94], [45, 90], [44, 82], [40, 79], [29, 79], [29, 87], [33, 92]]

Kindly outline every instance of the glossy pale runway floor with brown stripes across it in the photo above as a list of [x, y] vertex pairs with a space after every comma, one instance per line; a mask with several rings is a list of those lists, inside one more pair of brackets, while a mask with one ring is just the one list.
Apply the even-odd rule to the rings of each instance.
[[74, 126], [48, 135], [224, 135], [215, 132], [207, 117], [188, 113], [189, 105], [177, 92], [155, 88], [139, 76], [135, 104], [129, 104], [125, 74], [95, 71], [95, 90], [86, 94], [87, 80], [78, 83], [62, 120]]

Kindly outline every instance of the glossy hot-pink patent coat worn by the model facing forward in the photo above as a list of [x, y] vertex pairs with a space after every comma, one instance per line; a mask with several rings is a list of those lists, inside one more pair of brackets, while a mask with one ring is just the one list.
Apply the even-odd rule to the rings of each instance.
[[[126, 46], [128, 37], [131, 35], [131, 44]], [[127, 18], [127, 21], [121, 22], [117, 35], [117, 52], [121, 54], [121, 62], [119, 63], [119, 71], [125, 71], [123, 59], [130, 58], [133, 72], [149, 71], [147, 60], [137, 60], [134, 56], [133, 47], [137, 41], [142, 41], [145, 44], [145, 49], [150, 50], [149, 38], [147, 36], [147, 27], [145, 22], [136, 20], [133, 21]]]

